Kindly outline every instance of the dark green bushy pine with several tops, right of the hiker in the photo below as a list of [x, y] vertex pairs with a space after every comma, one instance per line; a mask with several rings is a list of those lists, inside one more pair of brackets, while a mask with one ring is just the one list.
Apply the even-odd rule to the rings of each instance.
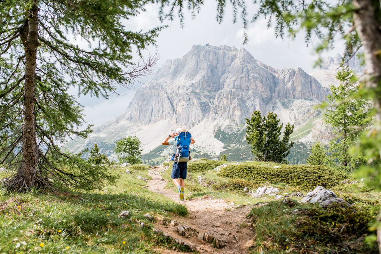
[[277, 114], [269, 112], [267, 117], [261, 116], [261, 112], [254, 111], [251, 118], [246, 118], [247, 130], [245, 138], [250, 145], [251, 152], [258, 161], [273, 161], [276, 163], [287, 163], [287, 155], [294, 142], [288, 142], [294, 125], [287, 123], [283, 138], [283, 123], [279, 125], [280, 119]]

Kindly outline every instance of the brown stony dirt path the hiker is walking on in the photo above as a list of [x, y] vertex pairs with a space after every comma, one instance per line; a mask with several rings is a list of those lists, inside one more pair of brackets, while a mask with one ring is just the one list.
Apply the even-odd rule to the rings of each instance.
[[[169, 170], [169, 167], [152, 168], [149, 173], [152, 177], [148, 182], [149, 189], [185, 204], [190, 214], [174, 217], [166, 225], [158, 220], [155, 228], [200, 253], [248, 253], [248, 247], [253, 244], [251, 224], [246, 217], [251, 206], [234, 208], [223, 199], [212, 199], [210, 196], [180, 201], [174, 188], [165, 189], [167, 180], [163, 179], [162, 174]], [[186, 188], [184, 196], [186, 198]], [[176, 251], [178, 250], [165, 250], [162, 253]]]

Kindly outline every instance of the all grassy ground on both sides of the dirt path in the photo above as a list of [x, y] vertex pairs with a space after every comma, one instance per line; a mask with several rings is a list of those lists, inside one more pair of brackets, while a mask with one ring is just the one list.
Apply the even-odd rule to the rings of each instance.
[[[185, 188], [187, 199], [208, 195], [213, 198], [223, 198], [228, 203], [233, 202], [234, 205], [268, 203], [265, 206], [253, 208], [250, 215], [256, 243], [251, 249], [253, 253], [261, 253], [261, 251], [264, 251], [263, 253], [311, 253], [311, 251], [331, 253], [331, 250], [341, 248], [337, 243], [348, 243], [355, 248], [355, 251], [352, 250], [353, 253], [364, 253], [361, 250], [371, 253], [369, 250], [375, 250], [375, 247], [366, 245], [363, 238], [353, 244], [352, 242], [359, 237], [352, 232], [344, 230], [346, 235], [340, 233], [342, 226], [347, 225], [349, 230], [357, 230], [360, 234], [369, 235], [366, 229], [367, 223], [375, 220], [373, 216], [377, 214], [380, 205], [379, 192], [375, 190], [364, 188], [361, 184], [337, 184], [331, 188], [349, 203], [357, 202], [352, 206], [356, 212], [349, 220], [351, 222], [349, 227], [348, 219], [342, 216], [335, 217], [335, 213], [333, 213], [334, 218], [327, 219], [324, 217], [325, 210], [319, 210], [317, 206], [292, 203], [297, 202], [301, 197], [292, 196], [290, 203], [282, 203], [282, 200], [275, 200], [275, 196], [254, 198], [243, 192], [244, 187], [252, 189], [272, 185], [279, 188], [280, 194], [301, 192], [305, 195], [307, 191], [298, 186], [280, 182], [254, 183], [242, 179], [230, 179], [216, 174], [216, 171], [212, 169], [215, 164], [221, 165], [224, 162], [214, 161], [210, 167], [199, 163], [208, 163], [208, 161], [193, 162], [189, 166]], [[259, 162], [244, 164], [268, 168], [282, 166]], [[171, 167], [171, 163], [165, 163], [165, 165]], [[115, 174], [122, 174], [122, 177], [116, 185], [106, 186], [99, 192], [81, 193], [78, 190], [64, 193], [34, 191], [28, 194], [2, 192], [0, 195], [0, 253], [63, 251], [68, 253], [152, 253], [155, 248], [176, 246], [181, 249], [180, 246], [168, 243], [167, 240], [152, 233], [150, 228], [152, 222], [143, 214], [149, 213], [152, 216], [165, 218], [170, 217], [171, 214], [185, 215], [186, 208], [144, 188], [146, 182], [138, 180], [134, 175], [149, 178], [147, 170], [136, 171], [133, 174], [125, 173], [122, 168], [112, 170]], [[163, 177], [170, 180], [170, 170], [165, 172], [166, 175]], [[198, 176], [202, 176], [201, 184], [198, 182]], [[168, 181], [167, 187], [173, 188], [171, 181]], [[295, 209], [300, 209], [302, 212], [293, 214]], [[117, 215], [123, 210], [129, 210], [131, 216], [119, 218]], [[347, 214], [349, 211], [345, 211], [345, 215]], [[322, 217], [324, 219], [320, 219]], [[357, 219], [359, 219], [359, 225], [352, 225], [357, 224]], [[334, 226], [327, 225], [326, 221], [331, 224], [334, 222]], [[140, 222], [145, 222], [148, 226], [140, 228]], [[300, 234], [295, 228], [301, 226], [307, 231], [317, 228], [325, 231], [315, 230], [314, 234]], [[337, 238], [324, 240], [327, 230], [331, 230]], [[123, 244], [124, 241], [125, 244]], [[40, 243], [44, 246], [41, 247]], [[304, 249], [299, 247], [304, 246], [303, 244], [307, 244], [307, 247], [303, 247]], [[313, 248], [309, 247], [310, 245]], [[69, 249], [66, 249], [67, 247]]]

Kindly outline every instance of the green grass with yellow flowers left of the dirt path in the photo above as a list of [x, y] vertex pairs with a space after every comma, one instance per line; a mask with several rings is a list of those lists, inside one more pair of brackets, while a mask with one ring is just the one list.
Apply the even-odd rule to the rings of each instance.
[[[146, 182], [134, 174], [147, 177], [146, 170], [113, 171], [122, 174], [117, 184], [96, 192], [2, 189], [0, 253], [155, 253], [154, 248], [167, 246], [187, 251], [153, 233], [152, 221], [143, 216], [185, 216], [186, 207], [144, 188]], [[125, 210], [130, 216], [118, 217]], [[147, 226], [141, 228], [141, 222]]]

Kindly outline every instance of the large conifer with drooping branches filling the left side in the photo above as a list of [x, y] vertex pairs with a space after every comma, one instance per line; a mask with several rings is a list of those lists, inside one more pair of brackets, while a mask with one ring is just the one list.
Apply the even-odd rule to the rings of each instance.
[[[42, 187], [50, 178], [84, 188], [113, 181], [60, 149], [90, 132], [78, 130], [82, 105], [67, 90], [107, 98], [152, 70], [155, 56], [134, 64], [131, 53], [141, 56], [162, 27], [133, 32], [123, 25], [141, 11], [142, 2], [130, 0], [0, 1], [0, 164], [17, 171], [8, 188]], [[70, 34], [91, 49], [71, 43]]]

